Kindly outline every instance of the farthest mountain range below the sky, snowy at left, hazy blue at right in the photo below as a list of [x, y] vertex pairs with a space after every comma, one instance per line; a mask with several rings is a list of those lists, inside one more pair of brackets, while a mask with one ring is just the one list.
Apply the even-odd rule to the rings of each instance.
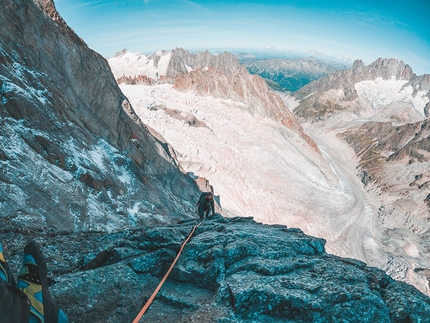
[[[240, 64], [245, 66], [251, 74], [261, 76], [271, 89], [281, 92], [295, 92], [333, 71], [350, 67], [348, 64], [314, 57], [256, 58], [245, 53], [232, 55], [224, 52], [212, 55], [208, 51], [193, 54], [181, 48], [176, 48], [171, 52], [159, 51], [152, 55], [123, 50], [109, 60], [112, 62], [112, 69], [116, 75], [118, 74], [116, 71], [120, 70], [124, 74], [121, 83], [150, 84], [152, 80], [162, 82], [163, 79], [175, 78], [205, 66], [212, 66], [226, 75], [230, 75], [239, 68]], [[139, 73], [136, 73], [137, 71]]]

